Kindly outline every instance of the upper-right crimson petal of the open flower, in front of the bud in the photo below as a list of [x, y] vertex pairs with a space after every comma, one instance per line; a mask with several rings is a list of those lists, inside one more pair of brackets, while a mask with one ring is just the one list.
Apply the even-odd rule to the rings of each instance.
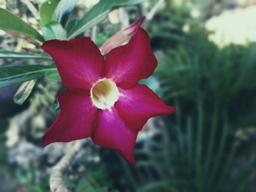
[[157, 60], [147, 32], [138, 28], [127, 45], [112, 49], [106, 58], [106, 77], [113, 79], [123, 89], [136, 86], [148, 78], [157, 67]]

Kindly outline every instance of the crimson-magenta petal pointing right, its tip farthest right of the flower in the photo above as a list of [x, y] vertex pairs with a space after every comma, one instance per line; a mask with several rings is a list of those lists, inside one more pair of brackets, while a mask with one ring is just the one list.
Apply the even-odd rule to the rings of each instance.
[[137, 84], [134, 88], [124, 90], [121, 93], [115, 107], [118, 115], [131, 129], [141, 130], [148, 118], [159, 115], [169, 115], [176, 108], [167, 106], [164, 101], [143, 84]]

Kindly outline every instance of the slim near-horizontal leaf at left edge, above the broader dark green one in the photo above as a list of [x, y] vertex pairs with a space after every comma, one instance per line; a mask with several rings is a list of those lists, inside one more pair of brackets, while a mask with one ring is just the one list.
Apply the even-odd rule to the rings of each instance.
[[40, 59], [40, 60], [52, 60], [51, 57], [42, 56], [40, 54], [31, 54], [26, 52], [14, 52], [0, 50], [0, 58], [13, 58], [13, 59]]

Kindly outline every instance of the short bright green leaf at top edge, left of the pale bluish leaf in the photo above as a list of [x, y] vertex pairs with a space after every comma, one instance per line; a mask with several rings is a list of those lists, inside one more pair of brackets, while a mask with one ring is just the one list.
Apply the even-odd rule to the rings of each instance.
[[55, 10], [59, 2], [60, 0], [47, 0], [41, 4], [39, 8], [39, 15], [44, 26], [49, 22], [56, 20]]

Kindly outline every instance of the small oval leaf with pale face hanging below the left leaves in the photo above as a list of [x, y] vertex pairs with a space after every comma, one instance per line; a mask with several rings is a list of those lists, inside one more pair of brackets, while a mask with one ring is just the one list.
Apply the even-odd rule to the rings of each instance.
[[24, 101], [28, 98], [28, 96], [32, 92], [35, 83], [36, 83], [36, 79], [22, 83], [19, 90], [17, 90], [17, 92], [14, 95], [14, 102], [19, 105], [24, 103]]

